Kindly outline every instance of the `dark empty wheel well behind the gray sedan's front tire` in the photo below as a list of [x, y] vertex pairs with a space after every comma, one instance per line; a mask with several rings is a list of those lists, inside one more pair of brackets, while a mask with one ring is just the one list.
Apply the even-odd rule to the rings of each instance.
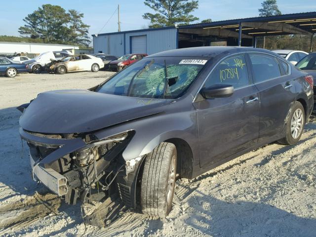
[[193, 153], [190, 145], [183, 139], [171, 138], [165, 142], [170, 142], [177, 149], [177, 173], [180, 177], [190, 179], [193, 173]]

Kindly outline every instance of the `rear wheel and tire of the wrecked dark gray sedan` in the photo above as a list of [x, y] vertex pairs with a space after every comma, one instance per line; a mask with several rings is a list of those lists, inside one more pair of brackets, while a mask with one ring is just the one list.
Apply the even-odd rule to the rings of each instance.
[[304, 124], [304, 107], [300, 102], [296, 101], [286, 121], [285, 137], [278, 140], [278, 142], [283, 145], [295, 145], [302, 136]]

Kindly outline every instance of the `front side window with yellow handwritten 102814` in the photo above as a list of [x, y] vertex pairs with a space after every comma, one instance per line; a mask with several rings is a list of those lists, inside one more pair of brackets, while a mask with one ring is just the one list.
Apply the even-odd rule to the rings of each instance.
[[232, 85], [234, 88], [249, 85], [249, 75], [243, 54], [223, 60], [205, 82], [205, 87], [215, 84]]

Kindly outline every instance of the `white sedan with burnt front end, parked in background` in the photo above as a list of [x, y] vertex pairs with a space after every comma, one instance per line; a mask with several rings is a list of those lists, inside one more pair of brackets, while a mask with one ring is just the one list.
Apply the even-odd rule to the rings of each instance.
[[104, 68], [102, 59], [87, 54], [67, 56], [52, 61], [47, 65], [48, 72], [55, 72], [57, 74], [82, 71], [98, 72], [101, 68]]

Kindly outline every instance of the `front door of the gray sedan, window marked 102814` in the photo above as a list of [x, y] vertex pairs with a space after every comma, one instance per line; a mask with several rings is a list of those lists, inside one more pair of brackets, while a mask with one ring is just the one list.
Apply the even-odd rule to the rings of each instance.
[[250, 80], [243, 54], [224, 59], [205, 82], [234, 86], [230, 97], [195, 102], [199, 132], [200, 166], [205, 168], [258, 140], [259, 94]]

